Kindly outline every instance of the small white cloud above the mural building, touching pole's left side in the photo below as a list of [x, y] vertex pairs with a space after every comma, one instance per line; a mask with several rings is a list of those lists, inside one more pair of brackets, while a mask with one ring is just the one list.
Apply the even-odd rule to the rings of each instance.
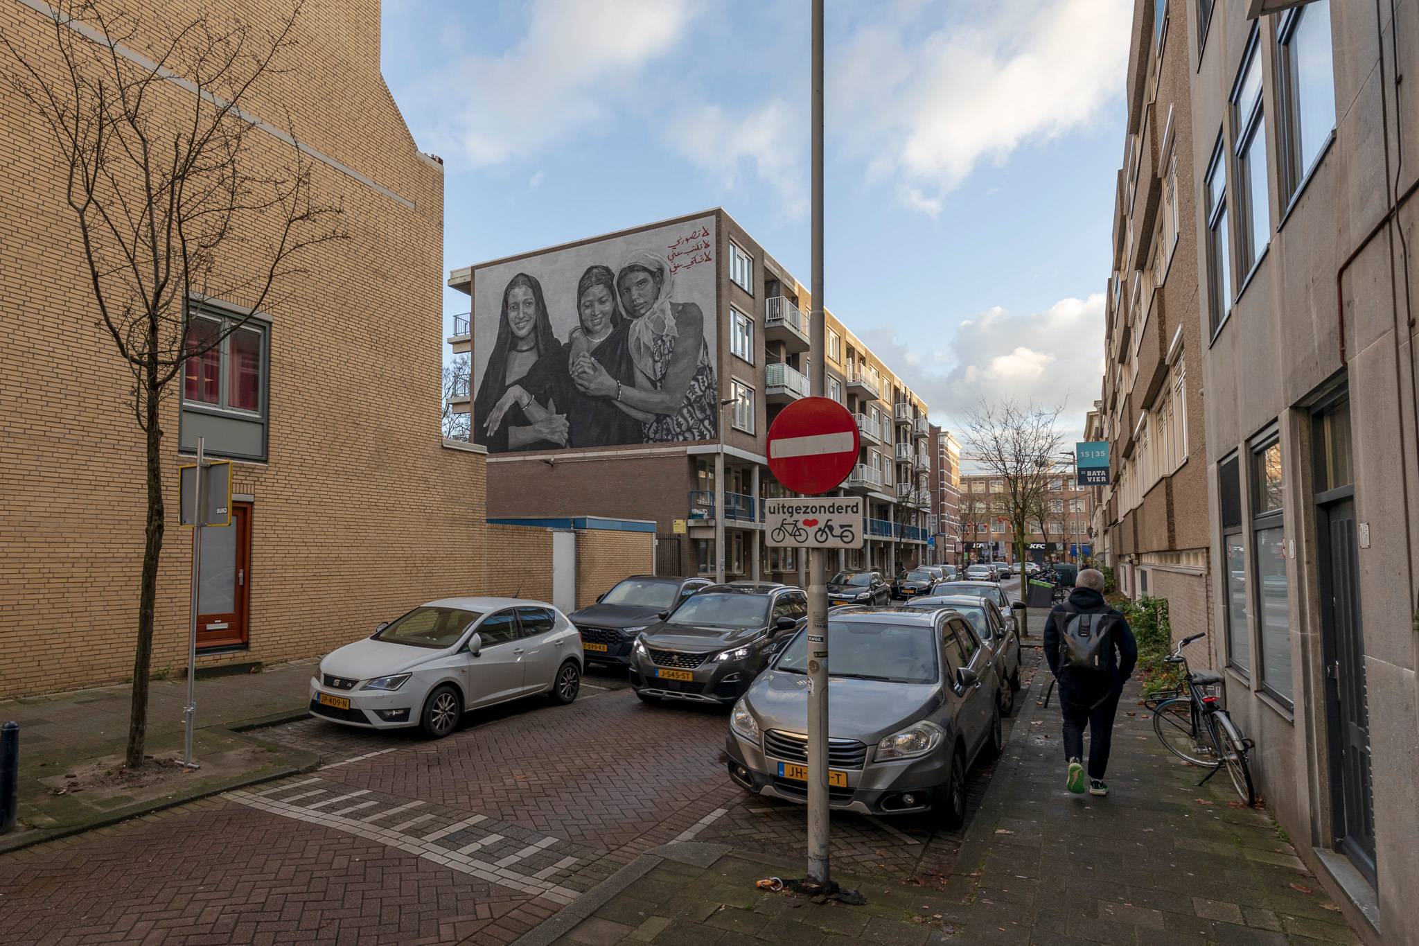
[[742, 116], [731, 116], [719, 105], [701, 105], [678, 116], [667, 139], [690, 163], [718, 177], [725, 190], [735, 189], [745, 166], [752, 167], [779, 191], [786, 213], [802, 217], [807, 210], [802, 125], [780, 98]]

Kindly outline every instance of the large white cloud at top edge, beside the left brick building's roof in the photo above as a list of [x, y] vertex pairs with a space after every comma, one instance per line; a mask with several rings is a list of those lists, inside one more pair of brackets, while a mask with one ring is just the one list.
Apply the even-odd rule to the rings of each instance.
[[670, 55], [701, 0], [534, 0], [522, 38], [465, 55], [420, 84], [438, 118], [430, 145], [478, 167], [534, 155], [604, 121], [650, 64]]

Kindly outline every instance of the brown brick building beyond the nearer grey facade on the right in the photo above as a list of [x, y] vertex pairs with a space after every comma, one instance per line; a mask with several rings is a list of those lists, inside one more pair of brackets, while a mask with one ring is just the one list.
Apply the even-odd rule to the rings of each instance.
[[1124, 594], [1168, 601], [1179, 640], [1212, 630], [1188, 6], [1134, 9], [1095, 408], [1095, 435], [1112, 444], [1103, 562]]

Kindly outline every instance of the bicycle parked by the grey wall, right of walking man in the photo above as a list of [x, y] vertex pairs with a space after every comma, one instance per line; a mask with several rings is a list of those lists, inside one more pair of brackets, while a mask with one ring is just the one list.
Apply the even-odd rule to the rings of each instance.
[[1202, 637], [1206, 634], [1182, 638], [1172, 648], [1172, 654], [1164, 658], [1169, 664], [1182, 664], [1183, 689], [1148, 699], [1145, 705], [1154, 711], [1154, 732], [1168, 752], [1183, 762], [1212, 770], [1198, 783], [1199, 786], [1226, 769], [1242, 801], [1252, 807], [1256, 804], [1256, 789], [1252, 784], [1252, 769], [1247, 766], [1246, 755], [1253, 743], [1242, 736], [1232, 716], [1222, 708], [1218, 695], [1209, 692], [1222, 682], [1222, 677], [1193, 672], [1188, 667], [1188, 658], [1182, 655], [1185, 645]]

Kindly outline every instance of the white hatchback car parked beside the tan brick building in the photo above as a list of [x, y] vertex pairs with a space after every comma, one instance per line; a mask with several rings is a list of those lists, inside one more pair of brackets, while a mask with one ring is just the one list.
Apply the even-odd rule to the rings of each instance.
[[545, 601], [441, 599], [321, 661], [311, 715], [349, 726], [447, 736], [468, 709], [582, 688], [582, 637]]

